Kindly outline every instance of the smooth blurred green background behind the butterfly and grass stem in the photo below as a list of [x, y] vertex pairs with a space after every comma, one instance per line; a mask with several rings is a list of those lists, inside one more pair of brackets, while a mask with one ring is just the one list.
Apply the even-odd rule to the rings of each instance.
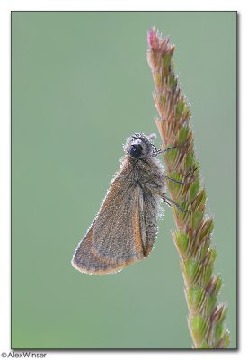
[[156, 131], [152, 26], [176, 44], [236, 347], [235, 12], [13, 12], [13, 348], [191, 347], [169, 208], [145, 261], [107, 276], [70, 263], [123, 142]]

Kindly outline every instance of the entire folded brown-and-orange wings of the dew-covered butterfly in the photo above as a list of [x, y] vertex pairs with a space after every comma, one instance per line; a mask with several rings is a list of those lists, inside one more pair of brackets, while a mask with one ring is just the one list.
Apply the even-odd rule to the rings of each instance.
[[146, 257], [157, 232], [157, 200], [120, 173], [102, 202], [91, 228], [80, 241], [73, 266], [88, 274], [109, 274]]

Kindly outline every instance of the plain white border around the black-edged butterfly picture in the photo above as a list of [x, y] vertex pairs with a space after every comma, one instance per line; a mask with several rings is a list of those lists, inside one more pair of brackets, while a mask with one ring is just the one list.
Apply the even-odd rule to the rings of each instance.
[[[247, 256], [248, 256], [248, 237], [243, 238], [245, 222], [248, 217], [248, 199], [247, 199], [247, 137], [248, 137], [248, 116], [244, 111], [247, 107], [248, 91], [247, 85], [247, 35], [248, 21], [247, 21], [247, 1], [236, 0], [208, 0], [206, 2], [199, 2], [199, 0], [174, 0], [174, 1], [161, 1], [153, 0], [137, 1], [137, 0], [119, 0], [110, 1], [54, 1], [43, 0], [39, 1], [3, 1], [0, 3], [0, 39], [1, 39], [1, 55], [0, 55], [0, 85], [1, 85], [1, 116], [0, 116], [0, 276], [1, 276], [1, 289], [0, 289], [0, 356], [3, 351], [8, 353], [10, 351], [10, 12], [15, 10], [57, 10], [57, 11], [72, 11], [72, 10], [183, 10], [183, 11], [213, 11], [213, 10], [236, 10], [239, 13], [239, 95], [240, 95], [240, 111], [239, 111], [239, 132], [240, 132], [240, 234], [239, 234], [239, 342], [240, 350], [229, 352], [201, 352], [200, 356], [211, 358], [230, 358], [237, 356], [239, 358], [247, 358], [247, 326], [248, 321], [248, 297], [247, 297]], [[246, 11], [245, 11], [246, 10]], [[245, 30], [246, 29], [246, 30]], [[244, 43], [244, 41], [246, 43]], [[243, 64], [245, 64], [243, 66]], [[244, 121], [242, 121], [244, 119]], [[247, 232], [247, 231], [246, 231]], [[43, 351], [42, 351], [43, 352]], [[44, 351], [45, 352], [45, 351]], [[199, 352], [186, 352], [186, 351], [157, 351], [157, 352], [81, 352], [81, 351], [50, 351], [46, 358], [71, 358], [71, 357], [94, 358], [100, 357], [102, 359], [111, 358], [128, 358], [130, 360], [142, 358], [147, 359], [151, 357], [173, 356], [174, 358], [183, 357], [184, 360], [191, 359], [192, 357], [199, 356]]]

